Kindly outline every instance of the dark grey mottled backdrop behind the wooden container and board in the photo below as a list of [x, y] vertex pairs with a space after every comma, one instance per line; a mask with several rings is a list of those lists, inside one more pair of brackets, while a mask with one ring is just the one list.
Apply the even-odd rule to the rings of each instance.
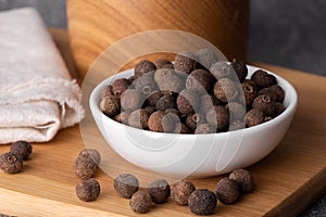
[[[25, 5], [48, 26], [66, 28], [65, 0], [0, 0], [0, 11]], [[248, 61], [326, 76], [325, 0], [251, 0], [250, 10]], [[301, 215], [308, 216], [326, 217], [326, 195]]]

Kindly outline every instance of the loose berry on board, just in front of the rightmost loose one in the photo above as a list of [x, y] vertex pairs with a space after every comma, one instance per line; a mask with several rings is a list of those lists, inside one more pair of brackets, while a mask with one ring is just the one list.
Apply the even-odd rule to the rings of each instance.
[[223, 178], [217, 182], [216, 196], [224, 204], [233, 204], [240, 197], [239, 186], [231, 179]]

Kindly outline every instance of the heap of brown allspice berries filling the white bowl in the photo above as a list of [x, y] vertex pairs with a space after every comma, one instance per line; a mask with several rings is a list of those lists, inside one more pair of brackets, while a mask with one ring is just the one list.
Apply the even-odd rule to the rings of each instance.
[[175, 60], [140, 61], [128, 78], [101, 91], [101, 111], [125, 125], [170, 133], [215, 133], [268, 122], [285, 110], [285, 92], [263, 69], [248, 78], [237, 60], [218, 61], [210, 49]]

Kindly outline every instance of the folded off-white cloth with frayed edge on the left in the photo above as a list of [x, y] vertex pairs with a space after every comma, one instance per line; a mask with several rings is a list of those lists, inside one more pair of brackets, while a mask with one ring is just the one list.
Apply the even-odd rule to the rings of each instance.
[[40, 15], [0, 13], [0, 143], [45, 142], [84, 117], [80, 89]]

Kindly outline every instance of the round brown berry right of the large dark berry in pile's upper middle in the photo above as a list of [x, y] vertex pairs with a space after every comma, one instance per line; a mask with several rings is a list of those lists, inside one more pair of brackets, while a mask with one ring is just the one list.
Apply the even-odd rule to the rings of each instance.
[[238, 87], [229, 78], [221, 78], [214, 85], [214, 95], [222, 102], [230, 102], [237, 94]]

